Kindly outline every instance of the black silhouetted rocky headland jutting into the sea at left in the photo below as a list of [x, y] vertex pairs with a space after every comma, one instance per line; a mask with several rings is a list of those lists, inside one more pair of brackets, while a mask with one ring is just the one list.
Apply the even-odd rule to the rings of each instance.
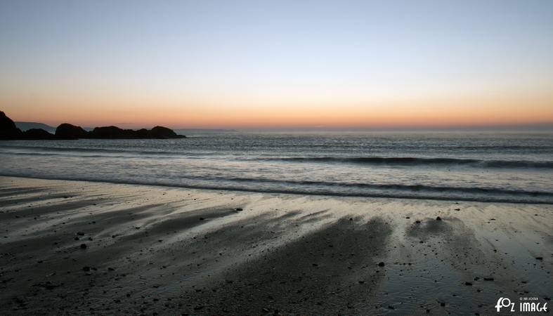
[[0, 111], [0, 139], [1, 140], [47, 140], [47, 139], [79, 139], [79, 138], [98, 138], [98, 139], [168, 139], [168, 138], [186, 138], [178, 135], [173, 130], [163, 126], [155, 126], [152, 129], [119, 129], [117, 126], [95, 127], [92, 131], [85, 131], [81, 126], [72, 124], [60, 124], [56, 128], [56, 133], [48, 133], [44, 129], [29, 129], [21, 131], [15, 126], [15, 123]]

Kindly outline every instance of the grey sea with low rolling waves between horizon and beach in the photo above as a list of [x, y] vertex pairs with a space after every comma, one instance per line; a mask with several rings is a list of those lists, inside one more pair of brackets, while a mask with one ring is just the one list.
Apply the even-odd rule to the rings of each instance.
[[212, 133], [0, 141], [0, 174], [316, 195], [553, 204], [551, 133]]

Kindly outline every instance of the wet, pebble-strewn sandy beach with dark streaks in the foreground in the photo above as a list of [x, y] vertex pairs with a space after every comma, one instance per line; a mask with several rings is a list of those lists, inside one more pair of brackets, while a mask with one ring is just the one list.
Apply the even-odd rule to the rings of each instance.
[[497, 315], [549, 300], [552, 228], [547, 204], [0, 177], [0, 314]]

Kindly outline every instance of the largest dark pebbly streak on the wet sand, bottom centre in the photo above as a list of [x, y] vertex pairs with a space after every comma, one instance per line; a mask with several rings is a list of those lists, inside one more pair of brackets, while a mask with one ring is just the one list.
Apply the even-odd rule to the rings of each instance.
[[[218, 314], [336, 314], [363, 310], [384, 275], [391, 228], [379, 218], [355, 223], [341, 218], [313, 234], [227, 272], [224, 281], [188, 293], [202, 312]], [[223, 308], [223, 310], [221, 310]]]

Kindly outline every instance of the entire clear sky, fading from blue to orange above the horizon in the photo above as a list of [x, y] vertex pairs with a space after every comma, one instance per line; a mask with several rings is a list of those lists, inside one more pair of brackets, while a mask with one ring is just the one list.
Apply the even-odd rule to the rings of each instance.
[[56, 126], [553, 122], [553, 1], [0, 1], [0, 110]]

